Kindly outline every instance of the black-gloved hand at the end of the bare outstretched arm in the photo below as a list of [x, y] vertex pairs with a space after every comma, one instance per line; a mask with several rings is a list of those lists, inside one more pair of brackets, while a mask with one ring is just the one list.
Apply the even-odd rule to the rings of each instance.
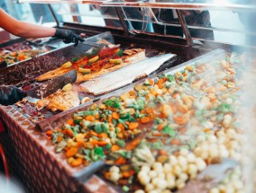
[[63, 42], [68, 43], [75, 43], [75, 47], [78, 46], [79, 41], [85, 41], [86, 34], [81, 33], [80, 35], [76, 34], [74, 31], [69, 30], [62, 30], [62, 29], [56, 29], [54, 37], [57, 37], [59, 39], [63, 39]]

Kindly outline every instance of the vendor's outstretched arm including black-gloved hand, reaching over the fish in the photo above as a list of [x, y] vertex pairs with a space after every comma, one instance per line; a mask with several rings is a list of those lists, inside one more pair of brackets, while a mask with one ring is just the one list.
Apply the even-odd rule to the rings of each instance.
[[22, 38], [56, 37], [63, 39], [64, 43], [75, 43], [76, 47], [78, 46], [78, 42], [84, 41], [82, 38], [86, 36], [84, 33], [81, 33], [79, 36], [74, 31], [60, 30], [32, 24], [29, 22], [17, 21], [11, 15], [5, 13], [2, 8], [0, 8], [0, 18], [1, 28], [14, 34], [15, 36]]

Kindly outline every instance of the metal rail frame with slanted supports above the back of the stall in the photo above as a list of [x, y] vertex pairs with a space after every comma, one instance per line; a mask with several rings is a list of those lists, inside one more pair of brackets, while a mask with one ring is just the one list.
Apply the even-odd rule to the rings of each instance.
[[[118, 0], [117, 0], [118, 1]], [[197, 30], [206, 30], [206, 31], [226, 31], [226, 32], [234, 32], [234, 33], [243, 33], [243, 34], [247, 34], [247, 35], [252, 35], [252, 36], [256, 36], [255, 32], [249, 32], [249, 31], [237, 31], [237, 30], [232, 30], [232, 29], [219, 29], [219, 28], [206, 28], [206, 27], [202, 27], [202, 26], [191, 26], [191, 25], [187, 25], [187, 22], [185, 20], [185, 16], [183, 14], [183, 9], [184, 10], [201, 10], [201, 9], [216, 9], [216, 10], [240, 10], [240, 11], [255, 11], [256, 10], [256, 4], [255, 5], [251, 5], [251, 4], [222, 4], [222, 5], [218, 5], [218, 4], [180, 4], [180, 3], [163, 3], [160, 2], [161, 0], [155, 0], [156, 2], [153, 3], [149, 3], [149, 2], [123, 2], [123, 1], [119, 1], [119, 2], [114, 2], [114, 1], [108, 1], [108, 0], [103, 0], [103, 1], [97, 1], [97, 0], [72, 0], [72, 1], [59, 1], [59, 0], [39, 0], [36, 1], [37, 3], [41, 3], [41, 4], [45, 4], [45, 3], [69, 3], [69, 4], [79, 4], [79, 3], [83, 3], [83, 4], [98, 4], [100, 6], [115, 6], [115, 11], [117, 13], [118, 18], [114, 18], [114, 17], [102, 17], [102, 18], [108, 18], [108, 19], [114, 19], [114, 20], [119, 20], [122, 24], [123, 27], [123, 34], [125, 36], [128, 36], [129, 34], [134, 34], [134, 31], [129, 31], [128, 30], [128, 26], [126, 25], [125, 21], [134, 21], [134, 22], [144, 22], [141, 20], [136, 20], [136, 19], [130, 19], [130, 18], [124, 18], [123, 17], [123, 10], [122, 7], [123, 6], [129, 6], [129, 7], [145, 7], [145, 8], [149, 8], [151, 14], [153, 15], [153, 19], [155, 22], [152, 21], [152, 23], [157, 23], [160, 25], [165, 25], [165, 26], [174, 26], [174, 27], [181, 27], [182, 31], [185, 35], [185, 38], [187, 40], [187, 46], [188, 47], [194, 47], [195, 44], [193, 43], [193, 39], [191, 37], [191, 34], [189, 32], [188, 29], [197, 29]], [[158, 2], [157, 2], [158, 1]], [[164, 0], [162, 0], [164, 1]], [[23, 2], [34, 2], [34, 0], [18, 0], [19, 3], [23, 3]], [[57, 23], [57, 27], [61, 27], [59, 26], [59, 21], [56, 17], [56, 13], [54, 12], [54, 10], [52, 9], [51, 5], [48, 4], [49, 9], [50, 9], [50, 13], [52, 14], [55, 22]], [[158, 20], [158, 18], [156, 18], [156, 16], [154, 15], [154, 13], [152, 12], [151, 8], [165, 8], [165, 9], [174, 9], [177, 14], [178, 14], [178, 23], [166, 23], [166, 22], [160, 22]], [[72, 13], [71, 13], [72, 14]], [[73, 14], [72, 14], [73, 15]], [[74, 14], [75, 16], [79, 16], [81, 14]], [[144, 34], [146, 32], [143, 32]], [[152, 34], [151, 34], [152, 35]], [[156, 36], [159, 36], [158, 34], [155, 34]], [[165, 34], [166, 35], [166, 34]], [[166, 35], [167, 37], [172, 37], [172, 38], [177, 38], [175, 36], [171, 36], [171, 35]], [[210, 44], [213, 43], [213, 41], [210, 40], [206, 40], [206, 39], [199, 39], [202, 42], [209, 42]], [[217, 42], [216, 43], [222, 43], [223, 42]], [[231, 43], [224, 43], [224, 44], [231, 44]], [[247, 47], [247, 46], [245, 46]], [[249, 47], [249, 48], [255, 48], [255, 47]]]

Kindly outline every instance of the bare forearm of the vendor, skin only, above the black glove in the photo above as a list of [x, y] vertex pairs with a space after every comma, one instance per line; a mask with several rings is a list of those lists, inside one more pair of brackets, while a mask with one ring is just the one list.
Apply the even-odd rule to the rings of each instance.
[[54, 36], [55, 28], [43, 27], [40, 25], [20, 22], [0, 8], [0, 27], [15, 36], [22, 38], [45, 38]]

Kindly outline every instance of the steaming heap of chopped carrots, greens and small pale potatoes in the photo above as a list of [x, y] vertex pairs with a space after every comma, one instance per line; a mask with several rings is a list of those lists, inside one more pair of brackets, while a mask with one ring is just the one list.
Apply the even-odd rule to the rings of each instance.
[[[202, 191], [225, 191], [231, 181], [222, 180], [231, 170], [231, 189], [239, 192], [244, 138], [234, 125], [234, 112], [241, 59], [227, 55], [145, 79], [130, 91], [78, 111], [46, 135], [72, 167], [90, 167], [99, 160], [113, 165], [103, 176], [124, 191], [170, 192], [187, 189], [194, 180], [203, 183]], [[223, 176], [211, 179], [209, 189], [204, 180], [211, 171], [206, 168], [215, 165]], [[205, 170], [205, 179], [197, 180]]]

